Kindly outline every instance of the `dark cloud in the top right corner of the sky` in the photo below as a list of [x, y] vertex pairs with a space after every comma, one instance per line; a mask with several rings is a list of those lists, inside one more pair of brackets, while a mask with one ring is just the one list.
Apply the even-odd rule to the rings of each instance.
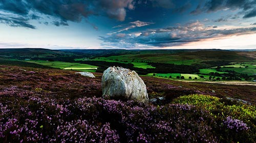
[[204, 5], [199, 4], [197, 8], [190, 12], [190, 14], [200, 14], [203, 12], [216, 12], [219, 10], [242, 10], [243, 18], [250, 18], [256, 16], [256, 1], [251, 0], [209, 0], [205, 1]]

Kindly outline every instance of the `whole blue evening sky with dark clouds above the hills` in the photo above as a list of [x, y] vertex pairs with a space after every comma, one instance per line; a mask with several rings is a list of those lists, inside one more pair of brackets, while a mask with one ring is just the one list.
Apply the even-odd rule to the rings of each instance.
[[256, 0], [0, 0], [0, 48], [256, 49]]

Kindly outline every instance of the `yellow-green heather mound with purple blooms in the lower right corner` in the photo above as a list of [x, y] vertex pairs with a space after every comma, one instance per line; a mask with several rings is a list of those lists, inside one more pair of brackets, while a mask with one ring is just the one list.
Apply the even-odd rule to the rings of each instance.
[[173, 101], [196, 105], [209, 111], [217, 123], [215, 132], [222, 141], [253, 142], [256, 138], [256, 107], [207, 95], [181, 96]]

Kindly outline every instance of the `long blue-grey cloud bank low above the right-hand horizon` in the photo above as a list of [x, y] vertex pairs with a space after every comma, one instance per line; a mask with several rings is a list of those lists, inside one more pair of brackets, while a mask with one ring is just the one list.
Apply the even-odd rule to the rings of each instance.
[[[179, 27], [167, 27], [157, 30], [148, 30], [136, 34], [113, 34], [108, 37], [100, 37], [104, 43], [110, 46], [123, 46], [126, 44], [143, 44], [147, 46], [175, 46], [188, 42], [201, 41], [209, 38], [223, 38], [231, 35], [244, 35], [256, 33], [256, 27], [232, 28], [221, 30], [218, 26], [205, 27], [199, 21], [190, 22]], [[127, 46], [128, 47], [128, 46]]]

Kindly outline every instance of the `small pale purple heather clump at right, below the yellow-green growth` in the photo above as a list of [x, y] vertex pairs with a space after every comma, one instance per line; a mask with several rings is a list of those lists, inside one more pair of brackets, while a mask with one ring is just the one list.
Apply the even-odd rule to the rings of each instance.
[[227, 126], [228, 129], [239, 131], [246, 131], [249, 129], [247, 124], [238, 119], [233, 119], [232, 117], [227, 117], [226, 120], [223, 121], [224, 125]]

